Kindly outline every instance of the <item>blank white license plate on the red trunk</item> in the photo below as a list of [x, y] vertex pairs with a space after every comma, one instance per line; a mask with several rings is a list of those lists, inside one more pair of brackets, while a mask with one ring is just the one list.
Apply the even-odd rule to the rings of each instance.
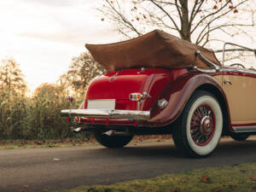
[[87, 108], [88, 109], [114, 109], [115, 99], [88, 100]]

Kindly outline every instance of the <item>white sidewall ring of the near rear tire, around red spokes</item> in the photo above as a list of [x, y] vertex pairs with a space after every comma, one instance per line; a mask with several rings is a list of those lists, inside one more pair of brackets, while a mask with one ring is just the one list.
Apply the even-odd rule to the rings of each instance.
[[[222, 110], [218, 104], [218, 101], [215, 99], [214, 96], [211, 94], [203, 91], [201, 93], [195, 96], [191, 101], [189, 101], [187, 115], [186, 115], [186, 121], [185, 121], [185, 132], [187, 137], [187, 142], [189, 144], [189, 148], [199, 156], [207, 156], [212, 153], [212, 151], [217, 147], [220, 137], [222, 135], [223, 131], [223, 114]], [[197, 145], [191, 136], [190, 132], [190, 122], [193, 116], [193, 113], [195, 112], [195, 109], [198, 108], [201, 105], [207, 105], [210, 108], [212, 108], [212, 113], [214, 113], [215, 116], [215, 131], [213, 133], [212, 139], [209, 143], [207, 143], [204, 146]]]

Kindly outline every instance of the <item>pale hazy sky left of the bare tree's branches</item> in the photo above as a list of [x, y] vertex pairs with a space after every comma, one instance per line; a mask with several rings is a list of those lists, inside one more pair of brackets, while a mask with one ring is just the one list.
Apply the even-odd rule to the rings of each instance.
[[101, 21], [102, 0], [0, 0], [0, 59], [13, 56], [34, 90], [54, 83], [85, 43], [118, 41]]

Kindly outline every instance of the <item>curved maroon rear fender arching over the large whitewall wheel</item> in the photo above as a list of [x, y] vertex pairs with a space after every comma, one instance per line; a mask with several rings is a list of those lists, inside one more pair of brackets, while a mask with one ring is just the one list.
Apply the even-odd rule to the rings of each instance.
[[177, 80], [168, 84], [167, 89], [161, 94], [166, 98], [168, 105], [160, 111], [153, 108], [153, 118], [150, 119], [150, 127], [169, 126], [183, 112], [189, 98], [193, 96], [196, 90], [207, 90], [216, 96], [224, 113], [224, 134], [232, 131], [230, 126], [230, 108], [227, 98], [224, 94], [221, 84], [218, 83], [212, 75], [206, 73], [187, 73], [180, 76]]

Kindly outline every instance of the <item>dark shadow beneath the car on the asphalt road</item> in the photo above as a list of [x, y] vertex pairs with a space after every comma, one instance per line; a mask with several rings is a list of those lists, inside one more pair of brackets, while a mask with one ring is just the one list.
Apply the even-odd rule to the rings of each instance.
[[[255, 137], [254, 137], [255, 138]], [[223, 139], [221, 143], [219, 143], [218, 148], [215, 149], [214, 153], [207, 157], [207, 159], [222, 159], [227, 157], [239, 157], [247, 156], [249, 154], [255, 154], [256, 152], [256, 140], [248, 139], [245, 142], [236, 142], [232, 140], [225, 141]], [[125, 148], [97, 148], [95, 149], [97, 152], [101, 154], [105, 154], [107, 156], [115, 156], [121, 155], [123, 157], [136, 157], [136, 158], [157, 158], [157, 159], [169, 159], [169, 158], [177, 158], [177, 159], [188, 159], [180, 153], [177, 148], [173, 145], [172, 142], [163, 144], [157, 143], [147, 143], [147, 145], [139, 145], [131, 144]], [[256, 159], [255, 159], [256, 160]]]

